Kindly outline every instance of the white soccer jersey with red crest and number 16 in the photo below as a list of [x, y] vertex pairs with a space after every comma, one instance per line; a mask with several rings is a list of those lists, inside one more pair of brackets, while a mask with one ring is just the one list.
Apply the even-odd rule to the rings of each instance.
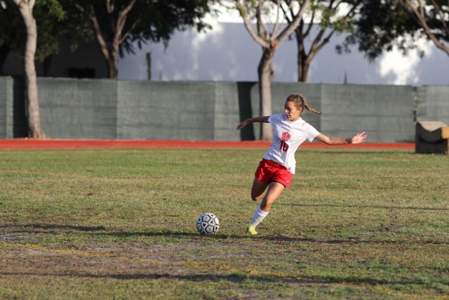
[[282, 164], [291, 174], [295, 174], [297, 148], [306, 140], [313, 141], [320, 134], [319, 131], [302, 118], [290, 121], [285, 113], [269, 116], [268, 122], [273, 127], [273, 141], [264, 159]]

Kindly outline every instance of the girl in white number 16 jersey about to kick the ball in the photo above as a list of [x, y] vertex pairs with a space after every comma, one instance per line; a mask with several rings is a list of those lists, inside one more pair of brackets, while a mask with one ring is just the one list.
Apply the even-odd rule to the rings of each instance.
[[319, 115], [321, 112], [309, 107], [301, 95], [288, 96], [284, 107], [285, 112], [282, 114], [246, 119], [237, 126], [237, 130], [240, 130], [254, 122], [270, 123], [274, 133], [272, 144], [257, 167], [253, 188], [251, 188], [251, 199], [254, 201], [260, 200], [265, 190], [267, 193], [246, 228], [250, 235], [257, 235], [255, 227], [267, 216], [272, 204], [283, 190], [290, 187], [293, 174], [295, 174], [295, 152], [304, 141], [311, 142], [316, 138], [328, 145], [343, 145], [362, 143], [368, 137], [365, 132], [357, 133], [352, 138], [328, 137], [319, 133], [300, 115], [304, 108]]

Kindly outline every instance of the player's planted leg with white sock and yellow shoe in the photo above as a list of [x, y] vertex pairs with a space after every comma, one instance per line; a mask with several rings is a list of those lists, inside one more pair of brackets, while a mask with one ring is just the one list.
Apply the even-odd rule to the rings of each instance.
[[255, 227], [259, 225], [263, 219], [265, 219], [269, 213], [269, 209], [272, 207], [272, 204], [281, 195], [285, 188], [286, 187], [279, 182], [273, 181], [272, 183], [269, 183], [267, 193], [265, 193], [260, 207], [257, 207], [254, 211], [253, 218], [246, 227], [246, 230], [250, 235], [257, 235]]

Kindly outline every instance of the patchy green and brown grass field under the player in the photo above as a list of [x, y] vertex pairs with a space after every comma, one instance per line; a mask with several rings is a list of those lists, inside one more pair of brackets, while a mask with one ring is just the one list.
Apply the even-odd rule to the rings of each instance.
[[447, 156], [300, 150], [248, 237], [263, 152], [1, 150], [0, 299], [449, 299]]

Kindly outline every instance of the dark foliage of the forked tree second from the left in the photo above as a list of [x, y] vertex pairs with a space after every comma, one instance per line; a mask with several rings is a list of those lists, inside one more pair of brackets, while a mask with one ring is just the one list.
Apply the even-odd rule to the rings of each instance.
[[[130, 0], [61, 2], [72, 12], [79, 11], [80, 8], [83, 10], [83, 13], [74, 13], [75, 22], [88, 21], [92, 26], [91, 18], [96, 18], [101, 34], [109, 46], [119, 34], [122, 39], [121, 54], [123, 51], [134, 53], [135, 44], [141, 48], [148, 41], [162, 40], [167, 45], [175, 30], [186, 30], [194, 26], [201, 31], [209, 27], [203, 22], [203, 16], [210, 11], [210, 0], [140, 0], [133, 4], [126, 15], [123, 11], [132, 2]], [[121, 16], [125, 16], [125, 21], [121, 32], [117, 32]]]

